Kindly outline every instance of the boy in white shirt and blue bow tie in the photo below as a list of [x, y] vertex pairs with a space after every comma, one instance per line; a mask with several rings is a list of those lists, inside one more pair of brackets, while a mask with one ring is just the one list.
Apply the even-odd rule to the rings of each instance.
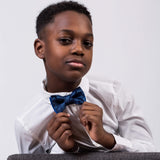
[[46, 79], [39, 99], [16, 120], [20, 152], [154, 151], [150, 130], [121, 85], [84, 77], [93, 51], [87, 8], [72, 1], [48, 6], [36, 31]]

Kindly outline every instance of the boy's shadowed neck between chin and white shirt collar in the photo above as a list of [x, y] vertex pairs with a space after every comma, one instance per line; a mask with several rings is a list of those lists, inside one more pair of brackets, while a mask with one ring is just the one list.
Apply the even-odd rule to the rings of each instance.
[[46, 84], [46, 90], [51, 93], [55, 92], [71, 92], [73, 91], [81, 82], [80, 80], [77, 81], [61, 81], [56, 78], [49, 78], [47, 77], [47, 84]]

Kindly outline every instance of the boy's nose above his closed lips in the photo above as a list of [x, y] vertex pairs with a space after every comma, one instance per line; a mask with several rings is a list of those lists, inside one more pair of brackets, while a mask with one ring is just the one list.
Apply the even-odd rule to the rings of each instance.
[[78, 56], [83, 56], [84, 55], [83, 45], [82, 45], [80, 40], [76, 40], [73, 43], [72, 54], [75, 54], [75, 55], [78, 55]]

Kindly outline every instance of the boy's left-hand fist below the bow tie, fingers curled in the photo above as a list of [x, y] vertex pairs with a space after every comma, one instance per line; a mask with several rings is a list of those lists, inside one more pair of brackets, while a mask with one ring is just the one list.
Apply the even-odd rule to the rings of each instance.
[[71, 137], [72, 131], [69, 117], [70, 115], [65, 112], [58, 114], [54, 112], [54, 117], [47, 126], [49, 136], [54, 139], [64, 151], [72, 149], [75, 144]]

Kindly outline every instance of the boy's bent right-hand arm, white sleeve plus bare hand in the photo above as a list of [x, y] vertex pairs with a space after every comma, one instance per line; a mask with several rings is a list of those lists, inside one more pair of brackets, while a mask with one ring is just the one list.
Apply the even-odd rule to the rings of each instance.
[[104, 130], [102, 109], [99, 106], [87, 102], [82, 105], [80, 120], [90, 137], [114, 151], [155, 151], [150, 130], [138, 107], [135, 106], [134, 100], [128, 97], [118, 99], [123, 100], [123, 102], [118, 100], [119, 104], [114, 107], [118, 117], [119, 135], [113, 135]]

